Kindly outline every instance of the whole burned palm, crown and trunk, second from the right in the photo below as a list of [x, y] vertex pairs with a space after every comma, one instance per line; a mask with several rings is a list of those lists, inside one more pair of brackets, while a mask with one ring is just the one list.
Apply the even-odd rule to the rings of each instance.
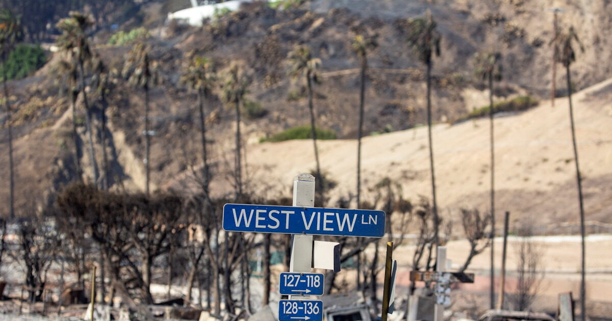
[[490, 307], [493, 309], [494, 301], [494, 251], [493, 238], [495, 237], [495, 152], [494, 152], [494, 136], [493, 136], [493, 81], [501, 80], [501, 54], [482, 52], [474, 55], [474, 74], [488, 81], [489, 87], [489, 140], [491, 150], [491, 284], [490, 284]]

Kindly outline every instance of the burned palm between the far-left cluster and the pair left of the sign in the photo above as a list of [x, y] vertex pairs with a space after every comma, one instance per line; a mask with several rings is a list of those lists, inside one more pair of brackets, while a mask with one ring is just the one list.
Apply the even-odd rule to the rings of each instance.
[[127, 54], [122, 74], [128, 82], [144, 90], [144, 167], [146, 171], [146, 193], [151, 186], [151, 127], [149, 124], [149, 90], [160, 83], [157, 62], [151, 58], [151, 49], [144, 43], [136, 43]]

